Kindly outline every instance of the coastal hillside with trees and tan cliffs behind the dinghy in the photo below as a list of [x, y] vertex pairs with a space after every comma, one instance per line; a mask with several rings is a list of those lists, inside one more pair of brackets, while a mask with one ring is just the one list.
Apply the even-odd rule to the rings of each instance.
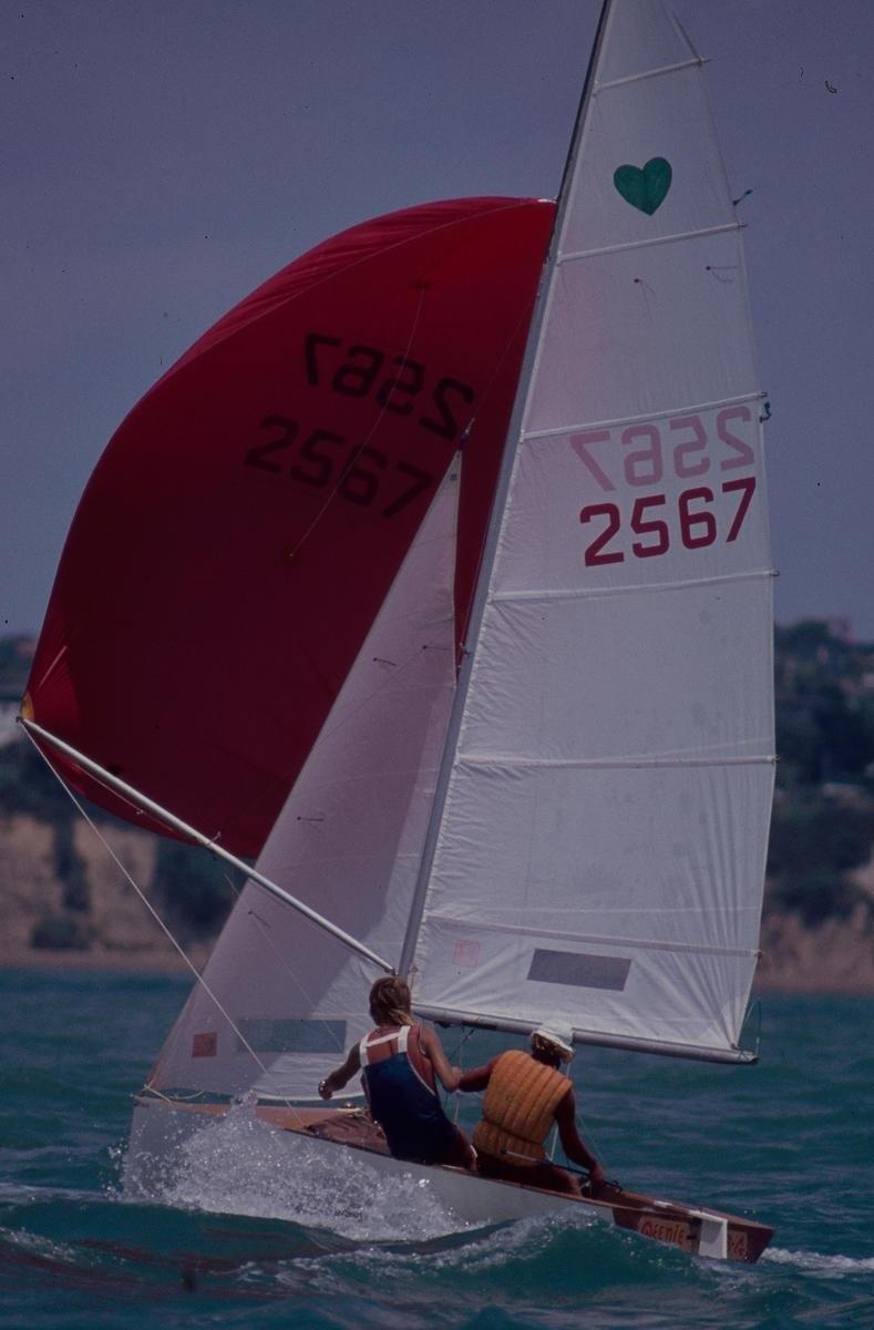
[[[0, 964], [182, 964], [138, 891], [202, 963], [239, 882], [202, 851], [97, 809], [94, 827], [82, 819], [13, 725], [31, 654], [29, 640], [0, 638]], [[874, 994], [874, 646], [841, 622], [778, 628], [774, 677], [780, 762], [757, 983]]]

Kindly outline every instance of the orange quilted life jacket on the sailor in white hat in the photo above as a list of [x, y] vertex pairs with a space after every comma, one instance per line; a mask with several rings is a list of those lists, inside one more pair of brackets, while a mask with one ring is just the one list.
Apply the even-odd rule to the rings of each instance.
[[521, 1168], [542, 1162], [555, 1109], [570, 1085], [567, 1076], [521, 1048], [502, 1053], [489, 1077], [474, 1149]]

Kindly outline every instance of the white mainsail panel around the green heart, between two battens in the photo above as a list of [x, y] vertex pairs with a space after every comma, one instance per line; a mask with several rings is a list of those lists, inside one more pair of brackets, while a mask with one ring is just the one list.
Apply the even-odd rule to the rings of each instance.
[[[716, 137], [701, 133], [709, 121], [697, 65], [622, 89], [602, 88], [591, 105], [561, 255], [735, 223]], [[646, 168], [654, 160], [669, 164], [671, 178], [664, 198], [648, 214], [623, 197], [614, 173], [631, 168], [632, 186], [639, 173], [644, 188]], [[664, 182], [659, 193], [663, 188]]]

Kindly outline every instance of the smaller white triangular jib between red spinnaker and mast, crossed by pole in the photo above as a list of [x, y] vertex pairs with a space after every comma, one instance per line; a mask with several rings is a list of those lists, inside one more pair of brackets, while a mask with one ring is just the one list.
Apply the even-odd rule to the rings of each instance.
[[[266, 876], [389, 958], [406, 930], [456, 688], [460, 477], [456, 459], [258, 859]], [[315, 1099], [369, 1028], [373, 978], [365, 960], [248, 883], [150, 1085]]]

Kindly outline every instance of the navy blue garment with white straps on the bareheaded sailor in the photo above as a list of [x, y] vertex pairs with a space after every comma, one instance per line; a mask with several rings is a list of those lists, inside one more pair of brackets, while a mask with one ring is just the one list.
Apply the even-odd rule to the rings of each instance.
[[[372, 1051], [381, 1044], [397, 1048], [389, 1057], [372, 1061]], [[364, 1036], [359, 1053], [371, 1113], [394, 1158], [416, 1164], [445, 1158], [456, 1144], [456, 1128], [442, 1111], [430, 1063], [420, 1049], [418, 1027], [400, 1025], [391, 1035], [375, 1029]]]

